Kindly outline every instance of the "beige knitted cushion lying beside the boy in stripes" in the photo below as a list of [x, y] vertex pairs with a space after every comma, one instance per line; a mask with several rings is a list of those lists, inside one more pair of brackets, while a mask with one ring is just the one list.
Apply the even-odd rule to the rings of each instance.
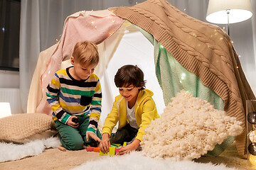
[[50, 115], [21, 113], [0, 118], [0, 142], [25, 143], [57, 134]]

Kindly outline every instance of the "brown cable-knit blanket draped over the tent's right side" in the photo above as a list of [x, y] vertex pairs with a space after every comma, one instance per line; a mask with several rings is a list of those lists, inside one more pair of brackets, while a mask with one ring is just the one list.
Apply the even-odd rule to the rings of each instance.
[[255, 95], [228, 35], [164, 0], [109, 10], [151, 33], [183, 67], [223, 99], [227, 114], [243, 123], [244, 130], [236, 137], [236, 146], [240, 156], [245, 157], [245, 101], [255, 99]]

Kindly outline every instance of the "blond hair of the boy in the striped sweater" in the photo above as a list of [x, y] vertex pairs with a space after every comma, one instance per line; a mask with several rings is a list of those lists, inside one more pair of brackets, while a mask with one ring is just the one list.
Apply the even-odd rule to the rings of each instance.
[[97, 45], [90, 41], [78, 42], [73, 50], [72, 56], [80, 64], [89, 62], [90, 64], [98, 64], [100, 57], [97, 51]]

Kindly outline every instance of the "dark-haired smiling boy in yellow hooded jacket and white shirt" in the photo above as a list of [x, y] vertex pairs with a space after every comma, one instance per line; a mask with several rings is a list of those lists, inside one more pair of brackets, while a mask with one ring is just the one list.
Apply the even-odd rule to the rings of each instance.
[[[115, 97], [112, 111], [103, 125], [100, 150], [106, 153], [110, 143], [131, 142], [119, 150], [119, 154], [126, 154], [139, 147], [145, 134], [144, 129], [151, 120], [159, 118], [159, 114], [151, 97], [153, 92], [145, 89], [144, 73], [139, 67], [124, 65], [119, 68], [114, 76], [114, 83], [119, 88], [120, 95]], [[111, 135], [118, 121], [117, 132]]]

